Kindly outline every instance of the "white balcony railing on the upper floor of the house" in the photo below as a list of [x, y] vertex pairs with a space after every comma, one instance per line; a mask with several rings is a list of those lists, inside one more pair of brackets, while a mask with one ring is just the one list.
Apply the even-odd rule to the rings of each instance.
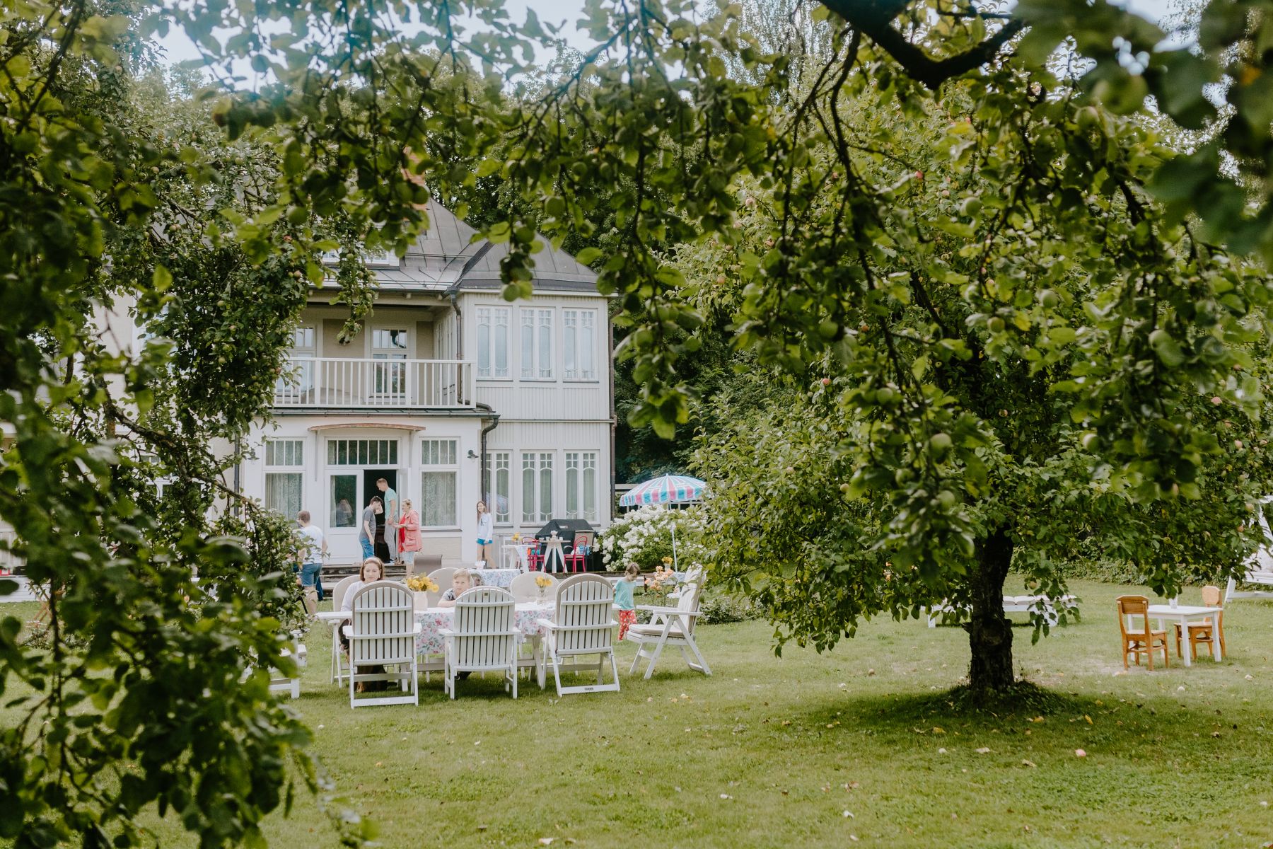
[[293, 356], [275, 407], [470, 409], [474, 365], [463, 360]]

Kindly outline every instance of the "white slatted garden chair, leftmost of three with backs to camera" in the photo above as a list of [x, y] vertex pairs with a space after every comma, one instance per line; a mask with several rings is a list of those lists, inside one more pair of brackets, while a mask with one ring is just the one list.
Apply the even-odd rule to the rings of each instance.
[[[349, 706], [420, 704], [419, 670], [415, 659], [415, 621], [411, 591], [396, 580], [377, 580], [354, 596], [349, 624]], [[359, 668], [393, 666], [393, 672], [359, 672]], [[397, 681], [404, 695], [355, 699], [360, 681]]]

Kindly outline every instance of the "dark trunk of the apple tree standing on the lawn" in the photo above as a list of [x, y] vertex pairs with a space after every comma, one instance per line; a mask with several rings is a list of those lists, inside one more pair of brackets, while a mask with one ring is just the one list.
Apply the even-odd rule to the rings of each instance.
[[1012, 564], [1012, 540], [998, 528], [978, 547], [973, 580], [973, 617], [965, 626], [973, 652], [967, 677], [973, 690], [1004, 692], [1012, 675], [1012, 620], [1003, 615], [1003, 582]]

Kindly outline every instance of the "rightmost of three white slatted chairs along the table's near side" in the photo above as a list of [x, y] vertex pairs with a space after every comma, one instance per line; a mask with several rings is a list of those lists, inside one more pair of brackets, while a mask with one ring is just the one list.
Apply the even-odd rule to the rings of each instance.
[[[541, 619], [544, 628], [544, 654], [540, 667], [540, 681], [545, 680], [547, 666], [552, 666], [558, 696], [568, 692], [619, 691], [619, 666], [615, 662], [614, 629], [617, 622], [611, 615], [615, 589], [610, 582], [598, 575], [574, 575], [558, 587], [556, 611], [552, 619]], [[597, 663], [582, 664], [578, 658], [597, 656]], [[602, 684], [606, 658], [614, 676], [611, 684]], [[565, 661], [570, 661], [565, 666]], [[597, 684], [563, 687], [561, 672], [596, 670]]]

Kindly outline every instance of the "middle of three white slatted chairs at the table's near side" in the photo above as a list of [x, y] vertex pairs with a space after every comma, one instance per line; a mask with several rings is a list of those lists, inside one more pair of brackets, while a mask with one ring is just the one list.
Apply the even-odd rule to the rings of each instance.
[[502, 587], [474, 587], [456, 600], [451, 628], [443, 639], [442, 689], [456, 698], [460, 672], [503, 672], [504, 689], [517, 698], [517, 643], [513, 593]]

